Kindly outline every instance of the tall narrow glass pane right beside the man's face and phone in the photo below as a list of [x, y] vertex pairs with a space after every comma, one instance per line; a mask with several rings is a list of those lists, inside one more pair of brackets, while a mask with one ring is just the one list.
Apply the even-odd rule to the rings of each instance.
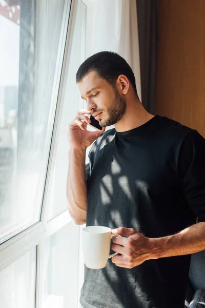
[[68, 170], [67, 125], [81, 104], [75, 74], [85, 57], [86, 6], [78, 1], [70, 61], [66, 70], [63, 96], [58, 117], [56, 138], [48, 190], [48, 215], [51, 218], [67, 208], [66, 180]]

